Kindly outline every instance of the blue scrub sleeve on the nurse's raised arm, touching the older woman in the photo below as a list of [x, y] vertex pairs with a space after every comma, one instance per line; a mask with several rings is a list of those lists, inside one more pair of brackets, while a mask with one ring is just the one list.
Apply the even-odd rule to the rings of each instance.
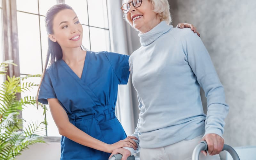
[[112, 52], [105, 52], [105, 54], [116, 74], [119, 84], [127, 84], [130, 75], [129, 56]]

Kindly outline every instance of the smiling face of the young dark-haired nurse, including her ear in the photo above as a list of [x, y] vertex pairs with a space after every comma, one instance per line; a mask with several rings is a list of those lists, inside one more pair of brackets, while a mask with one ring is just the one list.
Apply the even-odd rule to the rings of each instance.
[[81, 46], [83, 27], [73, 10], [65, 9], [57, 13], [53, 19], [53, 34], [49, 35], [53, 42], [58, 42], [61, 48], [76, 48]]

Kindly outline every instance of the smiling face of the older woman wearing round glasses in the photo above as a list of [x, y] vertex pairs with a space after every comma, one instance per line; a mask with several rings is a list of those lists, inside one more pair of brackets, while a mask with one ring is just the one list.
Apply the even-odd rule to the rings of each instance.
[[[131, 0], [126, 0], [124, 3], [129, 3]], [[142, 0], [140, 7], [131, 7], [126, 14], [126, 19], [130, 25], [139, 30], [141, 33], [146, 33], [157, 24], [160, 23], [160, 17], [156, 12], [153, 12], [154, 6], [148, 0]]]

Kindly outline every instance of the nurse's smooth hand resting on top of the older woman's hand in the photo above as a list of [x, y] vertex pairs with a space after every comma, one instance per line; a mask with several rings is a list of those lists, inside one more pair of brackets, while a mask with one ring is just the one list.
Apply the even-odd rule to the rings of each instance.
[[[122, 147], [129, 147], [129, 148], [133, 148], [134, 150], [137, 149], [137, 143], [132, 140], [132, 139], [135, 139], [137, 140], [136, 137], [133, 137], [133, 136], [128, 136], [126, 139], [124, 140], [119, 140], [118, 142], [116, 143], [113, 143], [113, 144], [110, 144], [108, 146], [108, 153], [112, 153], [114, 149], [116, 148], [122, 148]], [[130, 152], [130, 151], [129, 151]]]

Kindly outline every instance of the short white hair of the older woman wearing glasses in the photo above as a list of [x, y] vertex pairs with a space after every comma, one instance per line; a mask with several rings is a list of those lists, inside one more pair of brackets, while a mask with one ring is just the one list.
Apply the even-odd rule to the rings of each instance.
[[[123, 0], [123, 4], [131, 0]], [[154, 6], [154, 12], [158, 13], [161, 21], [165, 21], [167, 24], [172, 24], [172, 17], [170, 13], [170, 5], [168, 0], [148, 0]], [[127, 21], [126, 15], [124, 14], [124, 20]]]

